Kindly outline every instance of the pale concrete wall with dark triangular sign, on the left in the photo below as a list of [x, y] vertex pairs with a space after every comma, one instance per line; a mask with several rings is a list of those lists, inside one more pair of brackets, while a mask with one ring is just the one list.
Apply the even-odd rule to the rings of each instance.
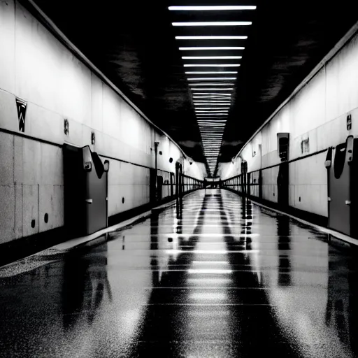
[[[179, 161], [185, 174], [199, 179], [206, 176], [203, 164], [189, 165], [175, 143], [13, 0], [0, 1], [0, 48], [0, 128], [8, 131], [0, 132], [0, 243], [64, 224], [60, 146], [65, 142], [90, 145], [99, 155], [113, 158], [109, 215], [149, 202], [155, 141], [163, 153], [158, 155], [159, 169], [175, 172]], [[27, 101], [24, 134], [29, 138], [17, 136], [16, 97]], [[64, 134], [65, 119], [68, 135]]]

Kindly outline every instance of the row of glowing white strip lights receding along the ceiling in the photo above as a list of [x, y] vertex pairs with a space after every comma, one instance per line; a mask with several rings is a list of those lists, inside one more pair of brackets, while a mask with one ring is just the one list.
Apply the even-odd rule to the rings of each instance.
[[[220, 11], [220, 10], [255, 10], [256, 6], [170, 6], [169, 10], [173, 11]], [[174, 27], [218, 27], [218, 26], [249, 26], [249, 21], [214, 21], [214, 22], [173, 22]], [[245, 40], [248, 36], [176, 36], [177, 40]], [[216, 51], [244, 50], [243, 46], [192, 46], [180, 47], [181, 51]], [[183, 60], [201, 59], [210, 61], [214, 59], [242, 59], [242, 56], [182, 56]], [[213, 77], [210, 75], [236, 75], [237, 71], [220, 71], [221, 68], [237, 68], [240, 64], [220, 64], [205, 63], [197, 64], [186, 63], [184, 67], [210, 67], [218, 68], [217, 71], [187, 71], [189, 77], [189, 89], [192, 91], [192, 101], [194, 103], [196, 118], [201, 133], [203, 151], [208, 163], [210, 173], [213, 176], [217, 167], [217, 157], [220, 153], [222, 136], [227, 121], [227, 115], [231, 104], [231, 91], [234, 90], [234, 80], [236, 77], [224, 76]], [[192, 77], [192, 75], [206, 75], [208, 77]], [[196, 82], [196, 83], [192, 83]], [[216, 82], [219, 81], [219, 82]], [[221, 81], [225, 81], [222, 83]], [[199, 92], [197, 92], [199, 91]], [[213, 92], [215, 91], [215, 92]], [[224, 92], [224, 93], [223, 93]]]

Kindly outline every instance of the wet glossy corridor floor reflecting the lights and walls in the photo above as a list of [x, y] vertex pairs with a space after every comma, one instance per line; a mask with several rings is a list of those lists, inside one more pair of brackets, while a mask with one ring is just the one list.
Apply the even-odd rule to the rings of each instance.
[[220, 189], [0, 269], [0, 357], [358, 357], [357, 259]]

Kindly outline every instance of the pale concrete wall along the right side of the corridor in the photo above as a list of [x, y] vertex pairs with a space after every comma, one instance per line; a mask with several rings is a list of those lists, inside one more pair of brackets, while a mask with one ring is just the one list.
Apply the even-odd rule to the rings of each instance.
[[[352, 129], [347, 130], [347, 115]], [[241, 172], [241, 160], [248, 171], [262, 171], [263, 197], [277, 201], [277, 134], [289, 132], [289, 160], [315, 154], [358, 135], [358, 35], [346, 43], [301, 90], [276, 113], [259, 133], [245, 144], [234, 163], [220, 164], [222, 179]], [[307, 140], [309, 145], [301, 145]], [[255, 148], [261, 145], [261, 154]], [[327, 216], [326, 153], [289, 164], [289, 205]]]

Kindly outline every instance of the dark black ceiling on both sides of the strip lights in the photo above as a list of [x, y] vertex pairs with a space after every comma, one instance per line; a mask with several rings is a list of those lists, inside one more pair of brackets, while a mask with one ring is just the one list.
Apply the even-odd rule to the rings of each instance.
[[[245, 29], [230, 29], [235, 31], [230, 34], [247, 35], [247, 40], [220, 43], [245, 46], [219, 157], [220, 162], [229, 162], [358, 20], [356, 1], [352, 0], [341, 0], [334, 6], [326, 0], [34, 1], [152, 122], [199, 162], [205, 162], [201, 136], [183, 54], [178, 50], [189, 41], [177, 41], [175, 36], [203, 34], [203, 29], [179, 29], [171, 22], [252, 21]], [[168, 9], [183, 5], [256, 5], [257, 10], [178, 14]], [[209, 29], [212, 35], [226, 35], [227, 30]]]

